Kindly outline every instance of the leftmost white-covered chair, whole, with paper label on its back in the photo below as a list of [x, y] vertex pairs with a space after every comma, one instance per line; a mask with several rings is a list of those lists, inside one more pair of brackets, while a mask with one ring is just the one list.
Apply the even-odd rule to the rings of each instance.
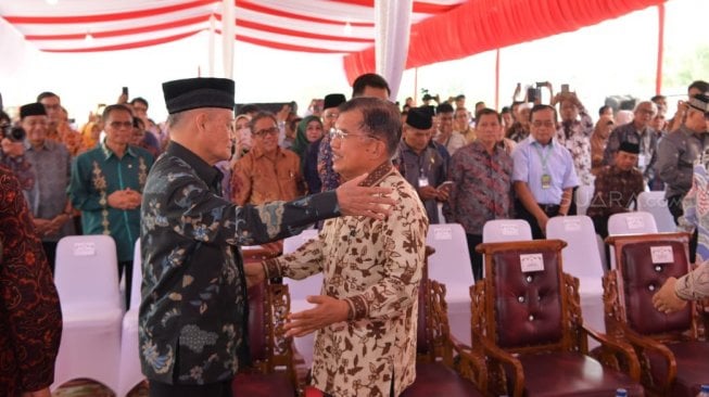
[[54, 283], [63, 330], [51, 389], [87, 377], [115, 392], [123, 310], [113, 239], [71, 235], [60, 240]]

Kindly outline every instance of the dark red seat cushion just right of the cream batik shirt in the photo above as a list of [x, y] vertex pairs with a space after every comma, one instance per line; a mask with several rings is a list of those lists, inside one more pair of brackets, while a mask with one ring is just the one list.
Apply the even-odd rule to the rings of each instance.
[[416, 381], [401, 397], [476, 397], [483, 396], [476, 386], [442, 363], [417, 363]]

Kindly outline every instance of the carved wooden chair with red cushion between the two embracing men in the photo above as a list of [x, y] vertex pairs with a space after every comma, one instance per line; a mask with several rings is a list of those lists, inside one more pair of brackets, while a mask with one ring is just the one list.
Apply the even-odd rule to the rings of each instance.
[[[244, 262], [259, 262], [278, 253], [269, 249], [245, 249]], [[240, 368], [235, 376], [235, 396], [296, 396], [292, 340], [283, 335], [286, 316], [290, 311], [288, 285], [267, 280], [249, 289], [249, 347], [252, 366]]]

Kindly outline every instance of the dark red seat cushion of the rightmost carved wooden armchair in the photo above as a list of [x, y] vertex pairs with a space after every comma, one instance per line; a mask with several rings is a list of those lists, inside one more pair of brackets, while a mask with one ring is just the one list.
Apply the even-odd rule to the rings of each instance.
[[[672, 396], [694, 397], [699, 394], [702, 384], [709, 384], [709, 343], [679, 342], [666, 344], [678, 361], [678, 376], [672, 388]], [[650, 372], [656, 384], [661, 384], [667, 377], [667, 361], [657, 354], [647, 355], [650, 360]]]

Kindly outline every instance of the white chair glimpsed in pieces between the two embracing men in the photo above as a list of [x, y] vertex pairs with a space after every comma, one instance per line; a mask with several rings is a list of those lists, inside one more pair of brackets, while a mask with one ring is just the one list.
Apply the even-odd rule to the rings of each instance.
[[[283, 240], [283, 255], [295, 252], [306, 242], [317, 239], [317, 229], [305, 229], [299, 235], [292, 235]], [[311, 309], [313, 304], [305, 300], [308, 295], [319, 295], [322, 289], [322, 273], [313, 274], [303, 280], [283, 278], [283, 284], [288, 284], [291, 295], [291, 312], [299, 312]], [[315, 333], [305, 336], [293, 337], [295, 349], [301, 354], [305, 364], [309, 368], [313, 363], [313, 350], [315, 348]]]

